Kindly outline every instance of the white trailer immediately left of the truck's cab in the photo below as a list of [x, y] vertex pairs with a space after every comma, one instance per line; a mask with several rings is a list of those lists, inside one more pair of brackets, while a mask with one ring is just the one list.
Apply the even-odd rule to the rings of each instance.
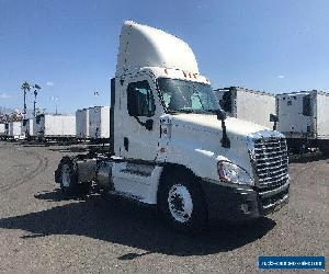
[[91, 139], [110, 138], [110, 106], [89, 109], [89, 137]]

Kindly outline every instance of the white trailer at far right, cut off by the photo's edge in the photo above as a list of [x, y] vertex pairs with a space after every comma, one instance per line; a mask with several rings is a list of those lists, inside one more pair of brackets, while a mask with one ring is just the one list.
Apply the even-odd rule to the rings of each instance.
[[329, 151], [329, 93], [313, 90], [276, 95], [277, 130], [293, 150]]

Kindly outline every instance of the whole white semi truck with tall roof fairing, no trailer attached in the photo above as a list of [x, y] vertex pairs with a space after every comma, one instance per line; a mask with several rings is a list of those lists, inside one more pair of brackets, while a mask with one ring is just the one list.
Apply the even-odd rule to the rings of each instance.
[[227, 117], [183, 41], [125, 22], [111, 81], [110, 151], [64, 157], [66, 194], [91, 184], [156, 205], [174, 227], [252, 219], [288, 201], [282, 134]]

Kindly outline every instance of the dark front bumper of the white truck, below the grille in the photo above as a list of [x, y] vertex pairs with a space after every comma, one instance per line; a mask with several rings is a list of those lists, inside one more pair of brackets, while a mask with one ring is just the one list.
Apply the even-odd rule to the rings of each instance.
[[266, 216], [288, 203], [290, 180], [282, 186], [261, 192], [257, 187], [203, 180], [202, 190], [211, 220], [247, 220]]

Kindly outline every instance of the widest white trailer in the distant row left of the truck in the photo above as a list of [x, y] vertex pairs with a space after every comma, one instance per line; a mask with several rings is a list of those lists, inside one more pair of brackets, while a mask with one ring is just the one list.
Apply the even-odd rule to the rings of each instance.
[[33, 119], [33, 133], [41, 138], [76, 137], [76, 115], [37, 115]]

